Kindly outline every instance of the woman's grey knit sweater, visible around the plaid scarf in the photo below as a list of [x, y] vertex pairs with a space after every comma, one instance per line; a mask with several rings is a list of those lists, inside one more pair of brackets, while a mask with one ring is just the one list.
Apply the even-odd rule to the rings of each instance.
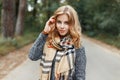
[[[33, 61], [39, 60], [43, 54], [43, 48], [47, 39], [47, 35], [40, 33], [36, 41], [34, 42], [33, 46], [29, 52], [29, 58]], [[85, 80], [86, 74], [86, 55], [85, 55], [85, 48], [82, 46], [75, 50], [76, 58], [75, 58], [75, 72], [73, 76], [69, 76], [68, 80]], [[52, 76], [51, 80], [54, 80], [54, 62], [52, 67]]]

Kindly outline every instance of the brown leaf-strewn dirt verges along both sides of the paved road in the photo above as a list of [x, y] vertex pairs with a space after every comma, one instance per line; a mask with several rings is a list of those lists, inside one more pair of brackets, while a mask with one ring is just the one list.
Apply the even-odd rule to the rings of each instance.
[[[99, 44], [105, 48], [110, 49], [111, 51], [120, 53], [120, 50], [118, 50], [114, 46], [110, 46], [98, 40], [88, 38], [87, 36], [83, 36], [83, 38], [93, 41], [96, 44]], [[4, 76], [6, 76], [11, 70], [19, 66], [23, 61], [25, 61], [28, 58], [28, 52], [31, 46], [32, 44], [29, 44], [19, 50], [10, 52], [8, 55], [4, 57], [0, 57], [0, 80]]]

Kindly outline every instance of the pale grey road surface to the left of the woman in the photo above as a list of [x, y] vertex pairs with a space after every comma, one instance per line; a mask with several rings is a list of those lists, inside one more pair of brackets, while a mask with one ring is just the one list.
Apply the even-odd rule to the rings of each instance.
[[38, 80], [39, 79], [39, 61], [27, 59], [20, 66], [11, 71], [2, 80]]

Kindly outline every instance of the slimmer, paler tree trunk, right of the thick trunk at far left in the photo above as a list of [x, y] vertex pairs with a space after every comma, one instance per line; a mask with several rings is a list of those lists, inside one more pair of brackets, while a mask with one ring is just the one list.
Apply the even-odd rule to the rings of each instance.
[[22, 35], [23, 34], [23, 28], [24, 28], [24, 17], [25, 17], [25, 9], [26, 9], [26, 0], [19, 0], [19, 12], [17, 17], [17, 23], [16, 23], [16, 35]]

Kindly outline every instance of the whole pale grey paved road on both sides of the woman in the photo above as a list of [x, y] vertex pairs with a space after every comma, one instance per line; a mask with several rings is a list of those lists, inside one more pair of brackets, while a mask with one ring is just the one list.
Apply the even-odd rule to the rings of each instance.
[[[87, 55], [86, 80], [120, 80], [120, 55], [84, 40]], [[27, 59], [2, 80], [38, 80], [39, 61]]]

